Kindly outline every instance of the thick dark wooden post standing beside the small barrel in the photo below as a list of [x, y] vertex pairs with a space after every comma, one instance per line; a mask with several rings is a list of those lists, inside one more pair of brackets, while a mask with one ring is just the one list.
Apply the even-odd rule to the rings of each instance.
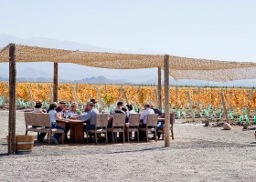
[[9, 45], [9, 133], [8, 154], [16, 152], [16, 45]]

